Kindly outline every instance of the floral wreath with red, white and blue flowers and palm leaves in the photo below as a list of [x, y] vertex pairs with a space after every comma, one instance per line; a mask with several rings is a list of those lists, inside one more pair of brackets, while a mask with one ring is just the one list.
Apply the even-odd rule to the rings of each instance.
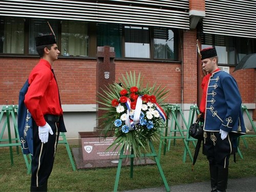
[[168, 93], [165, 88], [160, 89], [154, 84], [142, 89], [140, 83], [140, 73], [136, 80], [135, 72], [130, 75], [126, 73], [126, 78], [122, 75], [121, 83], [110, 84], [103, 94], [99, 93], [101, 101], [99, 103], [107, 108], [100, 118], [104, 119], [102, 129], [106, 135], [114, 135], [115, 141], [108, 150], [114, 147], [114, 151], [120, 146], [125, 153], [133, 153], [141, 156], [141, 150], [148, 151], [150, 140], [159, 140], [161, 129], [165, 127], [166, 114], [163, 110], [164, 96]]

